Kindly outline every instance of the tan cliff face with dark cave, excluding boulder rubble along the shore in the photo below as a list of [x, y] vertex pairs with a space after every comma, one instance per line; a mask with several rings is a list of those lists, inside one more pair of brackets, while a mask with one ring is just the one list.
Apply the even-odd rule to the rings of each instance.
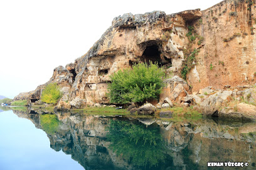
[[[115, 71], [137, 62], [157, 61], [167, 74], [184, 78], [191, 51], [197, 49], [195, 61], [190, 63], [192, 67], [185, 74], [193, 91], [206, 86], [224, 88], [228, 84], [227, 89], [254, 84], [254, 7], [254, 1], [226, 0], [205, 11], [195, 9], [176, 14], [153, 11], [115, 17], [112, 26], [87, 54], [65, 68], [56, 68], [48, 83], [70, 88], [61, 101], [70, 103], [79, 97], [87, 105], [109, 103], [107, 83]], [[189, 36], [191, 32], [192, 37]], [[191, 41], [193, 43], [189, 43]], [[169, 97], [172, 102], [181, 103], [182, 98], [191, 93], [188, 84], [175, 79], [175, 84], [173, 80], [165, 81], [167, 86], [161, 100]], [[46, 84], [35, 91], [19, 94], [14, 100], [31, 99], [33, 103], [40, 99]]]

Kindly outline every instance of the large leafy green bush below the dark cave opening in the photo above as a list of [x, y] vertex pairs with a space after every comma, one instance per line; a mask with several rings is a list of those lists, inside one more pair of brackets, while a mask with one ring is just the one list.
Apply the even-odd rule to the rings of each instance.
[[159, 98], [165, 77], [157, 63], [134, 64], [132, 69], [119, 70], [110, 76], [109, 98], [112, 103], [142, 103]]

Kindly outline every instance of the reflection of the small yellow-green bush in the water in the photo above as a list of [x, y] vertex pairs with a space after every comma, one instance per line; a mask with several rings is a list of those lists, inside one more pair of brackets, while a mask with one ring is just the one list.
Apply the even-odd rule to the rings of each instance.
[[53, 134], [57, 131], [60, 121], [55, 114], [42, 114], [40, 123], [47, 134]]

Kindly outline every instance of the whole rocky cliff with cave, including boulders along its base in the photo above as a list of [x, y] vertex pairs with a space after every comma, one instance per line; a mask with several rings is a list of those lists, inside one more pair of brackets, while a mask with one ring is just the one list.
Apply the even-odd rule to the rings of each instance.
[[226, 0], [205, 11], [115, 17], [87, 54], [58, 66], [47, 83], [19, 94], [14, 101], [40, 105], [43, 89], [56, 83], [63, 93], [56, 109], [109, 106], [110, 76], [133, 63], [152, 61], [159, 63], [169, 79], [164, 80], [159, 101], [132, 105], [131, 113], [193, 106], [206, 116], [256, 119], [253, 6], [254, 1]]

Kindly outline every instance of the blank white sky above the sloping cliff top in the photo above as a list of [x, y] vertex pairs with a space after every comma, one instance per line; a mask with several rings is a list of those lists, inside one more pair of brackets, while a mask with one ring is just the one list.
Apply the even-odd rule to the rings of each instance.
[[114, 17], [129, 13], [201, 10], [220, 0], [0, 1], [0, 95], [14, 98], [46, 83], [92, 47]]

